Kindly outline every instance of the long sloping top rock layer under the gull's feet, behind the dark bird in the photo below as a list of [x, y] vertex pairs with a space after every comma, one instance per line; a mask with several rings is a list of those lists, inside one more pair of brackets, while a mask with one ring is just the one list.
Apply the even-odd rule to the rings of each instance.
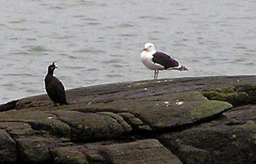
[[[254, 85], [255, 76], [223, 76], [159, 79], [82, 87], [66, 91], [67, 101], [72, 104], [111, 102], [118, 99], [137, 99], [152, 95], [165, 95], [183, 91], [216, 89], [217, 87]], [[147, 90], [145, 90], [147, 89]], [[15, 109], [28, 107], [53, 107], [46, 94], [19, 99]], [[8, 109], [6, 109], [8, 110]], [[1, 111], [1, 106], [0, 106]]]

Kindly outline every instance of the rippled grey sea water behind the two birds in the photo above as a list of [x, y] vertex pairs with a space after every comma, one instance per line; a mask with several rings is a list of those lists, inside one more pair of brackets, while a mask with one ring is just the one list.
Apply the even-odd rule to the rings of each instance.
[[255, 74], [256, 1], [0, 1], [0, 103], [45, 93], [46, 67], [66, 89], [152, 79], [146, 42], [190, 71], [160, 78]]

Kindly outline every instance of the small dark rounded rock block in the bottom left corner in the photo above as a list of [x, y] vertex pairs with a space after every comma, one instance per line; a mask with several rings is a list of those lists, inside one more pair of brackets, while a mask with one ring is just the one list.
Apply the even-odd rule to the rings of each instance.
[[15, 141], [6, 130], [0, 129], [0, 163], [16, 163], [17, 157]]

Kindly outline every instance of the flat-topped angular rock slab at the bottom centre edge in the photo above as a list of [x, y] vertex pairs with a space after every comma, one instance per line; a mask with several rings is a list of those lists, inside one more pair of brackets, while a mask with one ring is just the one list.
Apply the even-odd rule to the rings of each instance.
[[181, 163], [156, 139], [101, 146], [99, 151], [104, 154], [107, 163]]

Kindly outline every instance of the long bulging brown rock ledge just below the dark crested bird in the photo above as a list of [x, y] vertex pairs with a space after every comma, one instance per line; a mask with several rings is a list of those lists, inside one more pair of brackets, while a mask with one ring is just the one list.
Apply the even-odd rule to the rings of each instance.
[[[131, 131], [130, 125], [121, 116], [110, 112], [11, 110], [1, 113], [0, 122], [23, 122], [29, 124], [34, 130], [47, 131], [56, 137], [85, 142], [114, 138]], [[14, 124], [9, 123], [6, 128], [11, 126]]]

